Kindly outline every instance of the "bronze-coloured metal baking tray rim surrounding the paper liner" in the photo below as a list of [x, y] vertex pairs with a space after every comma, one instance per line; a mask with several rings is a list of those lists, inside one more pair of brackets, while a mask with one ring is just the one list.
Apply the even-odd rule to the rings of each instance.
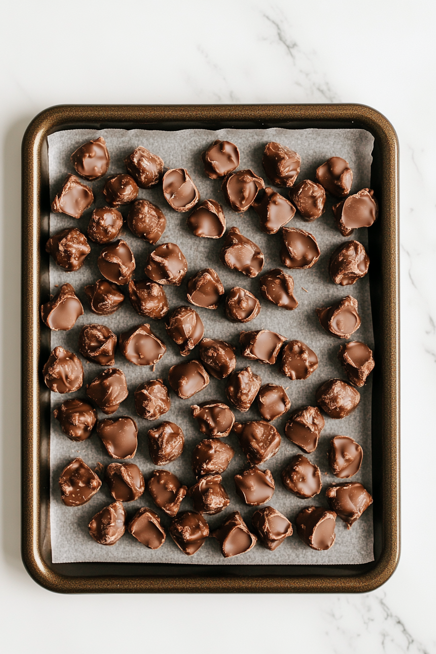
[[[41, 367], [50, 351], [39, 321], [48, 289], [50, 197], [47, 137], [61, 129], [361, 128], [374, 136], [371, 188], [379, 218], [369, 230], [369, 283], [378, 365], [373, 372], [373, 562], [359, 565], [53, 564], [50, 550], [50, 393]], [[59, 593], [367, 592], [399, 559], [398, 142], [364, 105], [64, 105], [41, 112], [22, 145], [22, 558]], [[46, 292], [46, 291], [45, 291]]]

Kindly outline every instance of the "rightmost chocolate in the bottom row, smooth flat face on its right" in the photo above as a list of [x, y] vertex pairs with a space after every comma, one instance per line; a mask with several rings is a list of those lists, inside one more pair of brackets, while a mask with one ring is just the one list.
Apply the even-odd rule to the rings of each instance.
[[329, 549], [335, 542], [335, 511], [326, 511], [322, 506], [308, 506], [299, 512], [295, 525], [303, 543], [312, 549]]

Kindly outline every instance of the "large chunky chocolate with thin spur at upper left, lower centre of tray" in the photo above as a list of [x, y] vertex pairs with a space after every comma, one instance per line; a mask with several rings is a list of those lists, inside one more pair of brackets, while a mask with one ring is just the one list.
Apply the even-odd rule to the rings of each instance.
[[238, 435], [239, 445], [253, 466], [265, 463], [277, 454], [282, 440], [277, 429], [264, 420], [235, 422], [233, 431]]

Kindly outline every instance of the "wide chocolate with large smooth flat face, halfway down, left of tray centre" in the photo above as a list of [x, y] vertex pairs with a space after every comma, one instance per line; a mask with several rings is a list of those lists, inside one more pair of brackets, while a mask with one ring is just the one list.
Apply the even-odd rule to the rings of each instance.
[[165, 343], [152, 332], [149, 324], [135, 325], [120, 334], [120, 350], [135, 366], [154, 366], [165, 354]]

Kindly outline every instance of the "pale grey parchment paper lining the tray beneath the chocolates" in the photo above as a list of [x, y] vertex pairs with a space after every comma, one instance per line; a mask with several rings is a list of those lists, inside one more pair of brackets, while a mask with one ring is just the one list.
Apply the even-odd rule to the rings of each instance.
[[[108, 174], [125, 172], [123, 163], [124, 157], [129, 154], [135, 147], [143, 145], [152, 152], [159, 154], [165, 162], [165, 167], [186, 167], [192, 175], [201, 200], [216, 199], [224, 209], [227, 219], [227, 228], [236, 226], [247, 237], [257, 243], [265, 254], [265, 266], [262, 273], [274, 267], [282, 267], [288, 272], [280, 262], [278, 250], [280, 248], [280, 235], [267, 235], [260, 231], [258, 216], [252, 209], [249, 209], [243, 215], [233, 212], [224, 202], [220, 192], [221, 181], [210, 180], [204, 174], [203, 165], [200, 161], [200, 154], [205, 147], [214, 139], [227, 139], [233, 141], [239, 147], [241, 152], [242, 168], [252, 168], [258, 175], [263, 177], [265, 184], [269, 185], [263, 167], [261, 166], [261, 156], [263, 148], [268, 141], [279, 141], [283, 145], [296, 150], [301, 155], [301, 173], [299, 179], [315, 179], [315, 170], [320, 163], [324, 162], [330, 156], [342, 156], [349, 163], [354, 173], [352, 193], [369, 186], [371, 152], [373, 149], [373, 137], [365, 130], [361, 129], [221, 129], [211, 131], [205, 129], [185, 129], [180, 131], [147, 131], [147, 130], [123, 130], [123, 129], [104, 129], [96, 131], [93, 129], [75, 129], [68, 131], [59, 131], [48, 137], [49, 146], [49, 173], [50, 173], [50, 201], [58, 192], [61, 183], [67, 173], [74, 173], [70, 162], [70, 155], [79, 145], [92, 138], [103, 136], [107, 142], [110, 152], [110, 168]], [[50, 214], [50, 234], [59, 232], [67, 227], [78, 227], [86, 233], [86, 228], [90, 219], [92, 210], [95, 207], [104, 206], [105, 201], [101, 190], [104, 185], [104, 179], [88, 183], [94, 192], [95, 203], [84, 216], [79, 220], [70, 218], [63, 214]], [[281, 191], [286, 194], [284, 190]], [[346, 294], [352, 294], [359, 302], [359, 313], [362, 317], [362, 324], [358, 332], [354, 334], [354, 339], [358, 339], [373, 347], [373, 330], [371, 321], [371, 305], [369, 301], [369, 279], [365, 277], [350, 287], [337, 286], [331, 281], [327, 264], [332, 250], [347, 240], [339, 233], [334, 226], [333, 213], [331, 205], [333, 201], [327, 199], [327, 210], [324, 215], [309, 224], [298, 215], [295, 215], [288, 226], [303, 228], [316, 236], [321, 249], [321, 256], [312, 269], [290, 271], [295, 288], [294, 294], [299, 301], [299, 306], [294, 311], [280, 309], [272, 303], [263, 300], [259, 291], [259, 277], [248, 279], [242, 273], [231, 271], [224, 267], [219, 260], [219, 252], [224, 239], [199, 239], [192, 235], [192, 232], [186, 228], [186, 217], [188, 214], [180, 214], [169, 207], [161, 191], [161, 187], [150, 190], [139, 190], [139, 198], [150, 199], [161, 207], [167, 217], [167, 228], [163, 233], [159, 243], [173, 241], [180, 246], [188, 260], [188, 274], [186, 280], [203, 267], [212, 267], [220, 276], [226, 292], [232, 286], [243, 286], [261, 300], [261, 311], [257, 318], [246, 324], [233, 324], [224, 317], [223, 302], [216, 311], [195, 307], [203, 323], [205, 324], [205, 336], [220, 338], [233, 345], [239, 343], [239, 332], [242, 330], [259, 330], [271, 329], [287, 339], [300, 339], [307, 343], [318, 355], [318, 369], [310, 375], [305, 381], [290, 381], [282, 375], [278, 365], [265, 366], [258, 362], [244, 359], [241, 356], [237, 358], [237, 368], [244, 368], [250, 365], [252, 370], [261, 376], [262, 384], [278, 383], [285, 388], [288, 387], [288, 396], [292, 406], [291, 410], [306, 404], [314, 404], [314, 392], [318, 386], [330, 379], [331, 377], [344, 378], [344, 373], [337, 360], [337, 352], [343, 343], [342, 340], [327, 334], [322, 330], [318, 323], [318, 318], [314, 313], [316, 307], [328, 306], [332, 302], [343, 298]], [[121, 207], [121, 213], [126, 218], [128, 207]], [[135, 254], [136, 270], [135, 279], [145, 277], [144, 264], [148, 252], [154, 247], [144, 241], [141, 241], [129, 232], [127, 226], [120, 233], [120, 237], [129, 243]], [[367, 246], [367, 229], [360, 229], [350, 237], [357, 239], [365, 247]], [[51, 349], [56, 345], [61, 345], [78, 353], [78, 334], [84, 324], [97, 322], [107, 325], [117, 336], [127, 328], [140, 324], [141, 322], [150, 322], [152, 330], [158, 334], [167, 345], [167, 352], [156, 365], [156, 371], [150, 368], [134, 366], [120, 353], [116, 353], [115, 366], [122, 368], [126, 374], [127, 386], [129, 388], [129, 397], [122, 403], [120, 409], [114, 414], [114, 417], [120, 415], [130, 415], [137, 422], [139, 428], [139, 445], [135, 457], [131, 460], [136, 463], [143, 472], [147, 480], [152, 470], [156, 466], [150, 460], [148, 455], [148, 445], [146, 432], [156, 426], [160, 421], [145, 421], [138, 417], [133, 404], [133, 391], [146, 379], [156, 379], [161, 377], [167, 383], [168, 370], [176, 362], [186, 360], [178, 352], [175, 343], [169, 339], [165, 332], [165, 326], [162, 321], [149, 320], [137, 315], [131, 307], [128, 300], [127, 287], [122, 288], [126, 294], [126, 301], [122, 309], [110, 316], [97, 316], [93, 314], [84, 295], [84, 286], [93, 283], [101, 277], [97, 268], [97, 257], [101, 251], [101, 246], [90, 241], [92, 249], [91, 254], [86, 259], [86, 264], [79, 271], [73, 273], [65, 272], [61, 267], [56, 266], [50, 258], [50, 292], [55, 294], [58, 287], [63, 283], [73, 284], [76, 294], [82, 301], [84, 315], [76, 322], [75, 327], [69, 332], [52, 332]], [[305, 290], [303, 290], [305, 289]], [[186, 301], [186, 283], [180, 287], [165, 286], [165, 292], [169, 300], [170, 310], [180, 304], [188, 304]], [[48, 298], [42, 298], [46, 301]], [[45, 328], [45, 327], [43, 327]], [[198, 356], [196, 348], [193, 355], [188, 358]], [[239, 348], [237, 348], [239, 353]], [[87, 362], [80, 356], [85, 371], [84, 387], [78, 392], [60, 395], [52, 393], [52, 409], [61, 405], [68, 398], [79, 397], [86, 398], [85, 385], [99, 374], [103, 368], [97, 364]], [[377, 362], [376, 362], [377, 365]], [[195, 483], [195, 477], [190, 467], [192, 450], [195, 445], [203, 438], [199, 432], [197, 422], [193, 420], [190, 413], [192, 404], [199, 404], [206, 400], [218, 399], [227, 402], [224, 394], [225, 381], [210, 377], [210, 384], [199, 394], [190, 398], [190, 400], [180, 400], [171, 392], [171, 409], [162, 417], [162, 419], [176, 422], [184, 431], [185, 448], [182, 456], [163, 466], [166, 470], [175, 473], [180, 481], [190, 487]], [[284, 437], [284, 424], [286, 415], [275, 421], [273, 424], [277, 427], [282, 435], [282, 445], [277, 455], [271, 458], [260, 468], [268, 468], [273, 473], [276, 482], [276, 489], [271, 506], [284, 513], [294, 524], [295, 516], [305, 506], [326, 506], [325, 490], [332, 483], [340, 481], [330, 472], [327, 464], [327, 449], [329, 441], [333, 436], [338, 434], [352, 436], [363, 448], [363, 464], [361, 470], [346, 481], [360, 481], [365, 488], [371, 492], [371, 375], [367, 385], [360, 389], [361, 402], [356, 411], [346, 419], [333, 421], [327, 416], [326, 426], [320, 436], [320, 441], [316, 451], [308, 458], [316, 463], [322, 472], [322, 491], [318, 496], [309, 500], [301, 500], [288, 492], [282, 487], [280, 481], [280, 471], [286, 466], [290, 458], [301, 451], [288, 439]], [[256, 402], [247, 413], [241, 413], [233, 409], [237, 421], [245, 422], [248, 420], [260, 419]], [[101, 411], [98, 411], [99, 419], [105, 417]], [[256, 510], [254, 507], [248, 507], [243, 504], [235, 493], [233, 475], [240, 472], [246, 467], [246, 457], [243, 455], [237, 437], [231, 434], [225, 439], [233, 449], [235, 456], [231, 461], [226, 472], [223, 473], [223, 485], [230, 497], [230, 505], [227, 509], [214, 516], [206, 516], [210, 529], [220, 525], [231, 511], [241, 511], [248, 526], [250, 526], [250, 517]], [[105, 483], [92, 500], [82, 507], [68, 508], [63, 505], [59, 495], [58, 479], [61, 470], [73, 458], [80, 456], [91, 467], [94, 468], [97, 462], [107, 466], [113, 461], [107, 455], [107, 452], [95, 432], [92, 437], [82, 443], [70, 441], [61, 431], [59, 423], [52, 416], [51, 434], [50, 434], [50, 537], [52, 544], [52, 561], [60, 562], [156, 562], [156, 563], [197, 563], [197, 564], [357, 564], [364, 563], [374, 559], [373, 557], [373, 517], [372, 507], [363, 513], [351, 530], [346, 529], [345, 523], [337, 519], [336, 542], [331, 549], [322, 552], [316, 552], [302, 543], [296, 532], [291, 538], [278, 547], [277, 550], [270, 552], [263, 548], [258, 542], [250, 552], [234, 557], [224, 559], [220, 554], [218, 542], [214, 538], [209, 538], [205, 545], [197, 551], [193, 557], [187, 557], [176, 547], [173, 540], [167, 534], [167, 540], [164, 545], [157, 551], [148, 548], [137, 542], [128, 532], [113, 547], [104, 547], [95, 543], [89, 535], [88, 523], [93, 515], [103, 506], [112, 502], [112, 497]], [[129, 460], [130, 462], [130, 460]], [[148, 491], [146, 490], [135, 502], [125, 503], [128, 519], [131, 519], [138, 508], [148, 506], [157, 510], [161, 516], [161, 522], [167, 528], [171, 519], [156, 509]], [[185, 498], [180, 510], [192, 509], [190, 498]]]

